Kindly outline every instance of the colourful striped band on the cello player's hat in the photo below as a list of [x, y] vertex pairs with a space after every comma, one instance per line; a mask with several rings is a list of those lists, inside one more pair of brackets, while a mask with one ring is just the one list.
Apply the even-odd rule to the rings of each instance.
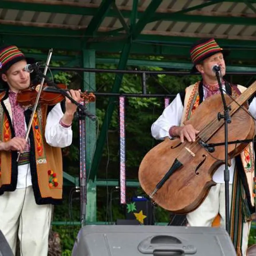
[[204, 60], [206, 56], [214, 52], [220, 52], [223, 49], [220, 48], [219, 44], [216, 43], [214, 39], [208, 40], [202, 44], [197, 44], [191, 49], [191, 59], [192, 62], [198, 63], [200, 60]]

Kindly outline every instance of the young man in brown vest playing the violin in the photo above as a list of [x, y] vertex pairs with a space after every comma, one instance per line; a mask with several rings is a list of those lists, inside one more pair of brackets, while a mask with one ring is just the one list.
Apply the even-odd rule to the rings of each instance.
[[[66, 98], [63, 113], [60, 103], [39, 104], [31, 117], [32, 109], [16, 100], [30, 86], [26, 64], [16, 46], [0, 48], [0, 80], [6, 88], [0, 92], [0, 230], [14, 255], [18, 233], [20, 255], [47, 256], [52, 204], [62, 200], [61, 148], [72, 143], [76, 105]], [[70, 90], [70, 96], [80, 101], [80, 91]]]

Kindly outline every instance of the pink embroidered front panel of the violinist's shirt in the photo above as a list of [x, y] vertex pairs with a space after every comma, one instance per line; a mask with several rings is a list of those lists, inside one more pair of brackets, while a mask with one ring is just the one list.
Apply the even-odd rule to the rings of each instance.
[[[17, 104], [17, 93], [9, 91], [9, 100], [12, 107], [12, 125], [15, 136], [20, 138], [26, 137], [24, 108]], [[29, 144], [27, 142], [24, 152], [29, 151]]]

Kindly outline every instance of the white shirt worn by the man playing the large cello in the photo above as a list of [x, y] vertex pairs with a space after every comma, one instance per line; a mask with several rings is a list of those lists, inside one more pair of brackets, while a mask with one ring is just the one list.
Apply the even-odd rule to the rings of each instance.
[[[205, 95], [205, 89], [204, 89]], [[164, 109], [162, 115], [154, 122], [151, 126], [152, 136], [156, 140], [164, 140], [165, 137], [170, 137], [169, 129], [176, 125], [180, 126], [181, 118], [183, 114], [184, 106], [180, 99], [180, 94], [177, 94], [176, 98], [172, 101], [172, 103]], [[254, 98], [249, 106], [249, 112], [256, 118], [256, 98]], [[229, 183], [233, 183], [234, 176], [234, 168], [235, 168], [235, 159], [231, 160], [231, 166], [229, 167]], [[216, 183], [224, 183], [224, 169], [225, 165], [221, 165], [216, 172], [214, 173], [212, 179]]]

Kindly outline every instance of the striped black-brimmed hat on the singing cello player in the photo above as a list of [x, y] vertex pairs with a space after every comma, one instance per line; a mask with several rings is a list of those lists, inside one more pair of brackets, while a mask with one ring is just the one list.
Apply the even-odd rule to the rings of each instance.
[[196, 65], [199, 64], [202, 60], [205, 60], [218, 52], [222, 52], [225, 56], [227, 56], [229, 53], [228, 51], [223, 50], [223, 48], [221, 48], [219, 44], [216, 43], [214, 38], [204, 38], [197, 41], [190, 48], [190, 56], [194, 64], [191, 72], [198, 72], [196, 69]]

